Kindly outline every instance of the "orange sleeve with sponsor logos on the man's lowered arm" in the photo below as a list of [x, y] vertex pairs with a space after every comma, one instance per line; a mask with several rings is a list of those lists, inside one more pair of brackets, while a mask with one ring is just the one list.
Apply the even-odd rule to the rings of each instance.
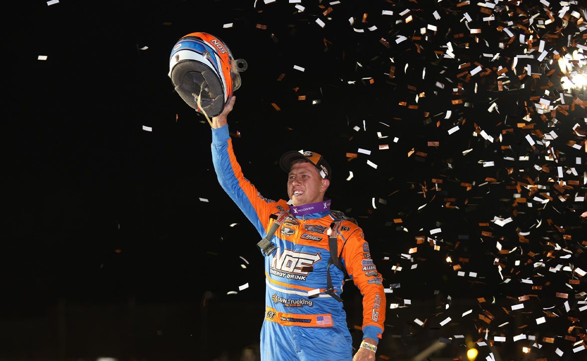
[[377, 342], [383, 333], [385, 321], [385, 293], [382, 276], [377, 272], [369, 243], [363, 239], [363, 230], [356, 228], [346, 241], [342, 251], [346, 272], [363, 295], [363, 338], [369, 337]]

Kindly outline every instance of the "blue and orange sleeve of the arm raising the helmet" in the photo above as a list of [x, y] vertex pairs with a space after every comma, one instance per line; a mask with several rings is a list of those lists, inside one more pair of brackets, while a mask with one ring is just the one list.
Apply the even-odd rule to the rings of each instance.
[[241, 166], [232, 151], [228, 125], [212, 129], [212, 162], [222, 189], [237, 203], [259, 235], [264, 237], [275, 201], [264, 198], [242, 175]]

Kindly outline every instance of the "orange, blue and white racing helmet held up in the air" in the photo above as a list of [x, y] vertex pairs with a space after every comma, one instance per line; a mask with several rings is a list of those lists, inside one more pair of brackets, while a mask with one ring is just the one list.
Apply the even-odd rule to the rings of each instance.
[[222, 112], [232, 92], [241, 86], [239, 72], [245, 70], [247, 62], [235, 60], [220, 39], [193, 32], [173, 47], [167, 75], [187, 105], [212, 117]]

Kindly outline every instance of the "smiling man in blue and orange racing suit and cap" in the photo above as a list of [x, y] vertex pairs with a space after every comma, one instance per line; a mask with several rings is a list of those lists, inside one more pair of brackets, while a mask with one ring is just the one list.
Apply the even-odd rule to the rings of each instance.
[[[312, 152], [285, 153], [280, 165], [288, 172], [291, 200], [264, 198], [244, 178], [232, 151], [227, 115], [234, 102], [233, 96], [213, 118], [212, 160], [220, 185], [264, 238], [258, 244], [266, 276], [261, 360], [375, 360], [385, 319], [382, 278], [362, 229], [331, 212], [330, 200], [324, 200], [332, 175], [328, 163]], [[363, 342], [355, 357], [339, 302], [343, 269], [363, 295]]]

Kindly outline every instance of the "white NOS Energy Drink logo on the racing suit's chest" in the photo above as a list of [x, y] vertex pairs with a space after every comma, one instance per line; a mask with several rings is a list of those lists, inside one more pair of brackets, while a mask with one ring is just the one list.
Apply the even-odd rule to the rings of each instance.
[[308, 271], [303, 271], [302, 267], [311, 267], [314, 263], [322, 259], [320, 253], [295, 252], [291, 249], [277, 248], [271, 256], [271, 269], [269, 273], [275, 276], [298, 279], [305, 281]]

